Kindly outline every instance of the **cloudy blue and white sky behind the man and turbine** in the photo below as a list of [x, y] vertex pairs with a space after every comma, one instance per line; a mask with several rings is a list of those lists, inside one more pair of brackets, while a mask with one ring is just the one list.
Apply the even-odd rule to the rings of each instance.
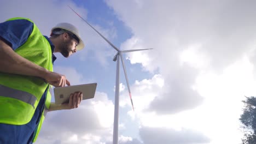
[[121, 69], [119, 143], [241, 143], [241, 101], [256, 94], [255, 1], [1, 1], [1, 22], [28, 17], [48, 36], [77, 26], [85, 49], [57, 54], [54, 70], [98, 83], [78, 109], [49, 112], [37, 144], [112, 143], [116, 51], [67, 5], [121, 50], [153, 49], [124, 55], [135, 111]]

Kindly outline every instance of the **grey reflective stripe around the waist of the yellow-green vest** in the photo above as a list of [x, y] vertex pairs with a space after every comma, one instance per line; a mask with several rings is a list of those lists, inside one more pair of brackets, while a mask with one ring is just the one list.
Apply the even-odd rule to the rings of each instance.
[[2, 97], [9, 97], [14, 99], [19, 99], [27, 104], [30, 104], [34, 107], [34, 103], [36, 103], [37, 98], [24, 91], [19, 91], [18, 89], [13, 89], [9, 87], [5, 87], [3, 85], [0, 85], [0, 95]]

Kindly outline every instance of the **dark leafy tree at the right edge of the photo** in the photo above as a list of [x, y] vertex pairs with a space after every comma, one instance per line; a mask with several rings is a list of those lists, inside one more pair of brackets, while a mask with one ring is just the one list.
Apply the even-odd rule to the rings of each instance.
[[246, 97], [240, 121], [243, 124], [242, 144], [256, 144], [256, 97]]

